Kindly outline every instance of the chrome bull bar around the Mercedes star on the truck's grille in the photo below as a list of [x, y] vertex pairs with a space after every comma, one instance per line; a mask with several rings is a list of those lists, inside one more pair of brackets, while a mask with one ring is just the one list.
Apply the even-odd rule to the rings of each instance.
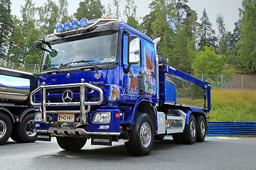
[[[31, 92], [30, 94], [30, 102], [33, 107], [40, 107], [42, 111], [42, 123], [48, 123], [46, 121], [47, 113], [80, 113], [80, 123], [82, 125], [87, 125], [87, 113], [90, 112], [91, 105], [100, 105], [103, 101], [103, 91], [97, 86], [93, 86], [88, 83], [78, 83], [78, 84], [60, 84], [60, 85], [50, 85], [45, 86], [43, 82], [42, 86], [39, 86], [37, 89]], [[46, 89], [59, 89], [59, 88], [72, 88], [80, 86], [80, 102], [69, 102], [69, 103], [46, 103]], [[99, 91], [100, 100], [99, 101], [85, 101], [85, 88], [89, 87], [90, 89], [94, 89], [95, 91]], [[38, 91], [42, 91], [42, 100], [41, 103], [33, 103], [33, 96]], [[46, 106], [80, 106], [80, 111], [46, 111]], [[87, 106], [87, 109], [85, 109]]]

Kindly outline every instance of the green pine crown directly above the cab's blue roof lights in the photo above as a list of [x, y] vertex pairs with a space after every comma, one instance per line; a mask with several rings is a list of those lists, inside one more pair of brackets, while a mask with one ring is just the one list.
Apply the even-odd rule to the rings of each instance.
[[74, 13], [78, 20], [87, 18], [88, 20], [102, 18], [105, 8], [100, 0], [84, 0], [80, 1], [77, 12]]

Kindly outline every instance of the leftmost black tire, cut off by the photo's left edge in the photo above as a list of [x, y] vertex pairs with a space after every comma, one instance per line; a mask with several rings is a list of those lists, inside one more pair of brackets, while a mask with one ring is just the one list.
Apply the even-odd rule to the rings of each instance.
[[13, 125], [9, 116], [4, 113], [0, 113], [0, 145], [4, 145], [4, 143], [9, 139], [12, 128]]

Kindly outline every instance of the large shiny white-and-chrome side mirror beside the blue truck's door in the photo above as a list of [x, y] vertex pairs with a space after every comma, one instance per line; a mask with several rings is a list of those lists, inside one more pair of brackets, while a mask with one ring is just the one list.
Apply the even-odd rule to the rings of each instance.
[[129, 64], [138, 64], [139, 63], [139, 37], [135, 35], [129, 36]]

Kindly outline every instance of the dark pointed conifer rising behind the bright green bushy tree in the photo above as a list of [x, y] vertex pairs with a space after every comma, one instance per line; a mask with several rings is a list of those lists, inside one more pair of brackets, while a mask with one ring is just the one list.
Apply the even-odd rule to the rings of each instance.
[[204, 46], [210, 47], [210, 45], [215, 48], [217, 38], [215, 37], [215, 31], [212, 28], [212, 23], [210, 23], [206, 13], [206, 8], [203, 9], [203, 16], [198, 28], [198, 38], [198, 46], [200, 50], [203, 50]]

